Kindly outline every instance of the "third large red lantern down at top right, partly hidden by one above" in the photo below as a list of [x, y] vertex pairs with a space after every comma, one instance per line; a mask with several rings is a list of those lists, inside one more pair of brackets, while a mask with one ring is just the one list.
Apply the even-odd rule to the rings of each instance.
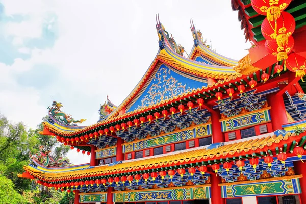
[[292, 36], [288, 37], [288, 43], [284, 46], [278, 46], [275, 40], [266, 40], [266, 50], [268, 53], [277, 56], [277, 61], [287, 60], [288, 53], [291, 52], [294, 46], [294, 39]]

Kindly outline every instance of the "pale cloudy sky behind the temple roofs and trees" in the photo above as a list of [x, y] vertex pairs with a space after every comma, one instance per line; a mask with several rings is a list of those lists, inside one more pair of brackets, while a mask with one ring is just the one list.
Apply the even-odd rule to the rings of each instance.
[[0, 0], [0, 113], [35, 128], [56, 100], [95, 123], [106, 96], [119, 105], [158, 52], [157, 13], [187, 53], [191, 18], [224, 56], [239, 60], [250, 47], [230, 0]]

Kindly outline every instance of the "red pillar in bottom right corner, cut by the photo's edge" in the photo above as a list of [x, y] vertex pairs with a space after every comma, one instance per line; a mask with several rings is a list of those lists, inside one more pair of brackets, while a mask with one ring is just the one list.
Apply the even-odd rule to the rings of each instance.
[[302, 161], [296, 161], [293, 162], [294, 166], [294, 172], [296, 175], [303, 175], [302, 178], [299, 179], [301, 191], [302, 193], [299, 194], [300, 196], [300, 203], [305, 204], [306, 203], [306, 163], [303, 163]]

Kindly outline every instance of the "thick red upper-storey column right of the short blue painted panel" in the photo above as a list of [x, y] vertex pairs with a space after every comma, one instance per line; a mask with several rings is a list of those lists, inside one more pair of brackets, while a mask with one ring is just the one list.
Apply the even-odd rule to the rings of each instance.
[[268, 105], [271, 106], [270, 116], [273, 131], [282, 129], [282, 125], [288, 123], [283, 96], [272, 93], [267, 95], [267, 100]]

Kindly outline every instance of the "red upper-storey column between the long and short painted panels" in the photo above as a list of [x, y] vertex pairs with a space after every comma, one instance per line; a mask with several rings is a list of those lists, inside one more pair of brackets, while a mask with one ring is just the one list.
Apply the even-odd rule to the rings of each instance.
[[224, 142], [224, 134], [221, 130], [220, 111], [213, 110], [211, 111], [211, 120], [212, 120], [212, 139], [213, 143]]

